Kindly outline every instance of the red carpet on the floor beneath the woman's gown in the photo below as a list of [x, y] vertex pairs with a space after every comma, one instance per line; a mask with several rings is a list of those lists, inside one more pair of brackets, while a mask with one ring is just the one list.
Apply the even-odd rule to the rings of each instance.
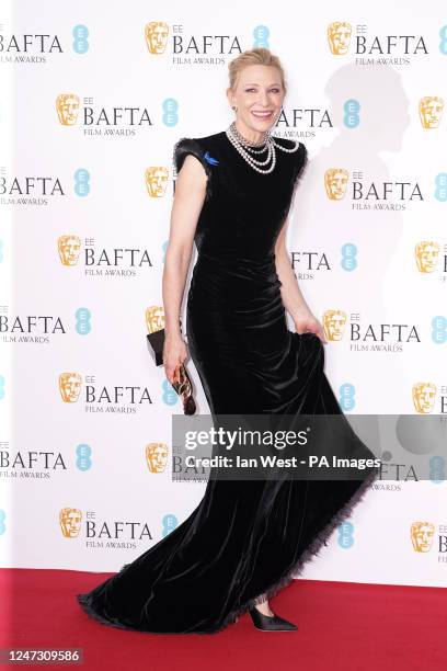
[[74, 594], [107, 576], [1, 569], [0, 647], [83, 648], [84, 663], [64, 668], [89, 671], [446, 668], [447, 603], [440, 588], [296, 580], [271, 604], [297, 632], [259, 632], [244, 614], [215, 635], [163, 636], [107, 627], [81, 611]]

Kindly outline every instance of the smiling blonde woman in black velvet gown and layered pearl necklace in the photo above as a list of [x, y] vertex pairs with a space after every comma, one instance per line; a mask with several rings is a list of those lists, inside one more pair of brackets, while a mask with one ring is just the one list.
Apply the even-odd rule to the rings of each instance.
[[[282, 65], [256, 48], [232, 60], [229, 76], [231, 126], [174, 148], [179, 174], [163, 274], [167, 377], [174, 382], [187, 357], [180, 309], [195, 241], [186, 332], [211, 413], [343, 414], [323, 373], [322, 326], [285, 246], [307, 152], [270, 135], [286, 94]], [[78, 599], [104, 624], [142, 632], [210, 634], [245, 611], [260, 629], [295, 630], [268, 600], [317, 554], [374, 477], [210, 479], [180, 526]]]

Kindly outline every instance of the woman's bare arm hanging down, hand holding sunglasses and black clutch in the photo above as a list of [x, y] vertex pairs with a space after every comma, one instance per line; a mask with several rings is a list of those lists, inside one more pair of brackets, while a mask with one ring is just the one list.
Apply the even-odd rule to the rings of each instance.
[[164, 308], [163, 364], [172, 383], [174, 372], [187, 356], [180, 330], [180, 310], [193, 252], [194, 234], [205, 201], [207, 175], [200, 162], [188, 153], [177, 174], [171, 209], [162, 294]]

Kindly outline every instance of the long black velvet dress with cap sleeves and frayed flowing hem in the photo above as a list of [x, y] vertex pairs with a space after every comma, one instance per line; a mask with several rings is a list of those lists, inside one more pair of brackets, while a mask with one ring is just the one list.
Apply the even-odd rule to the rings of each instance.
[[[343, 414], [323, 373], [324, 345], [287, 328], [275, 270], [275, 240], [306, 164], [305, 145], [278, 149], [268, 174], [248, 166], [225, 132], [179, 140], [179, 171], [187, 153], [208, 178], [186, 334], [211, 413]], [[119, 628], [216, 633], [290, 583], [375, 477], [210, 479], [183, 523], [78, 600]]]

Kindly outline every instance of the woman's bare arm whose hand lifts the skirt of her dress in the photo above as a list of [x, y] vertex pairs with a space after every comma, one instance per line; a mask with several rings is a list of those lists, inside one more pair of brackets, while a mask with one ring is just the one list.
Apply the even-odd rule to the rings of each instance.
[[279, 282], [282, 283], [280, 296], [283, 304], [294, 320], [295, 329], [298, 333], [314, 333], [322, 342], [326, 343], [328, 341], [324, 337], [323, 327], [312, 315], [310, 307], [306, 303], [298, 286], [298, 281], [294, 273], [294, 269], [291, 268], [289, 254], [286, 248], [287, 225], [288, 217], [286, 218], [275, 243], [275, 265]]

